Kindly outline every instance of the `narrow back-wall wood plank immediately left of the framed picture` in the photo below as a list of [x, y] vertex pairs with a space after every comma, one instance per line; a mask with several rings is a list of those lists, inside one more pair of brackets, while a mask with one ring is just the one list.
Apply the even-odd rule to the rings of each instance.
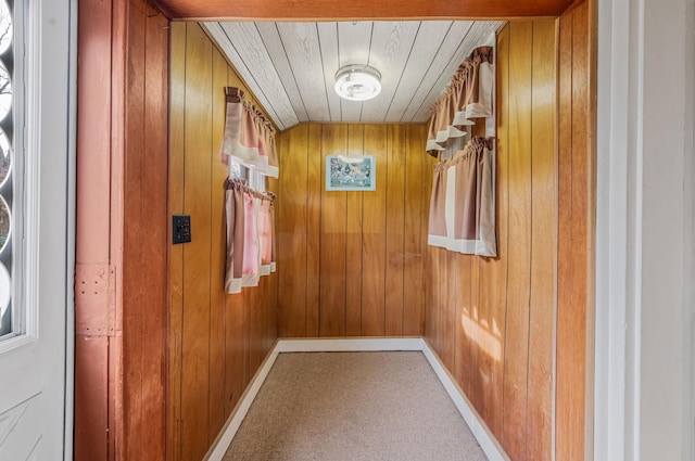
[[307, 202], [306, 202], [306, 336], [318, 336], [320, 307], [321, 196], [326, 189], [326, 170], [321, 167], [321, 125], [308, 127]]

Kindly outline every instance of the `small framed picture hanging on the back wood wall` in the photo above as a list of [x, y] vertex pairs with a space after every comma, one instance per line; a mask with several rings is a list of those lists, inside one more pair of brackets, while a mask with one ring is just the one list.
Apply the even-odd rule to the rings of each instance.
[[376, 191], [374, 155], [326, 155], [327, 191]]

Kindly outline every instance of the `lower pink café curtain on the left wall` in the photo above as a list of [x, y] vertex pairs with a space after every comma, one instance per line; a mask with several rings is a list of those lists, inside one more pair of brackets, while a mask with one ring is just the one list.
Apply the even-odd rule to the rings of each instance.
[[275, 194], [251, 189], [243, 179], [227, 179], [225, 191], [225, 291], [240, 293], [275, 272]]

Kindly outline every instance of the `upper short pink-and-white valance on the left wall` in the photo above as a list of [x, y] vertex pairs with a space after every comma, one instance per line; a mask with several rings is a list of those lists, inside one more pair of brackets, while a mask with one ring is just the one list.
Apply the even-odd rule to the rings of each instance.
[[227, 87], [227, 115], [222, 145], [223, 161], [233, 158], [257, 171], [278, 177], [275, 128], [253, 104], [243, 99], [243, 90]]

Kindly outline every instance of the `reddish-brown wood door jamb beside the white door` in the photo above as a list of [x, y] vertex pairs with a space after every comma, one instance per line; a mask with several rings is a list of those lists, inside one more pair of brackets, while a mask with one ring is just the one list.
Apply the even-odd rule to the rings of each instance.
[[79, 1], [75, 459], [162, 460], [168, 21]]

